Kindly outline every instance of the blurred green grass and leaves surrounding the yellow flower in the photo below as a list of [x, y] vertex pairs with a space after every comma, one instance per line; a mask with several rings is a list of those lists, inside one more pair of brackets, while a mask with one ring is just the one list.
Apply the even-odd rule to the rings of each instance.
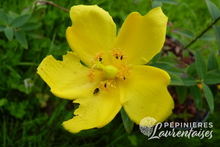
[[[138, 11], [142, 15], [151, 8], [162, 6], [169, 17], [167, 34], [186, 46], [219, 18], [220, 1], [204, 0], [54, 0], [70, 9], [78, 4], [97, 4], [110, 13], [118, 29], [126, 16]], [[190, 52], [195, 62], [180, 68], [178, 58], [168, 53], [155, 56], [150, 65], [166, 70], [171, 86], [176, 87], [181, 102], [191, 94], [198, 109], [209, 109], [208, 121], [214, 123], [213, 138], [161, 138], [147, 140], [138, 126], [129, 124], [126, 130], [120, 114], [101, 129], [71, 134], [61, 124], [72, 117], [77, 106], [60, 100], [36, 74], [44, 57], [57, 59], [70, 50], [65, 31], [71, 25], [69, 14], [57, 7], [32, 0], [0, 2], [0, 146], [216, 146], [220, 140], [220, 27], [217, 22], [195, 43]], [[188, 51], [183, 51], [188, 57]], [[198, 87], [202, 84], [203, 90]], [[206, 99], [204, 99], [206, 97]], [[215, 108], [215, 109], [214, 109]], [[122, 114], [123, 115], [123, 114]], [[184, 115], [185, 116], [185, 115]], [[132, 127], [131, 127], [132, 126]]]

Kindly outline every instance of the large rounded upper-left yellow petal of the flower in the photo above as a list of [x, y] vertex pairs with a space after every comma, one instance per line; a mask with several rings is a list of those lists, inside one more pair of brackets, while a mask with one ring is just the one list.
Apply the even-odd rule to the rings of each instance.
[[87, 66], [96, 53], [112, 49], [116, 26], [108, 12], [96, 5], [79, 5], [71, 8], [70, 18], [72, 26], [66, 30], [67, 41]]

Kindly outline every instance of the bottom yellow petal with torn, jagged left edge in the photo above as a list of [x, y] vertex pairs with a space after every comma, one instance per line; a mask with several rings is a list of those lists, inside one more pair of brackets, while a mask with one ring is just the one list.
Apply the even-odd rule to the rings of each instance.
[[101, 128], [108, 124], [121, 109], [118, 89], [111, 89], [109, 92], [99, 90], [88, 97], [75, 100], [74, 103], [80, 103], [74, 113], [76, 116], [63, 122], [64, 128], [72, 133]]

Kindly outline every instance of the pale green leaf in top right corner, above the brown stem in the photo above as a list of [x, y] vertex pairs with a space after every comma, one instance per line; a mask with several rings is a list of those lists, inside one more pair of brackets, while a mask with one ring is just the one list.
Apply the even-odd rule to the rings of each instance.
[[213, 20], [216, 20], [217, 18], [220, 17], [220, 10], [219, 8], [210, 0], [206, 0], [206, 4], [209, 10], [209, 13], [212, 17]]

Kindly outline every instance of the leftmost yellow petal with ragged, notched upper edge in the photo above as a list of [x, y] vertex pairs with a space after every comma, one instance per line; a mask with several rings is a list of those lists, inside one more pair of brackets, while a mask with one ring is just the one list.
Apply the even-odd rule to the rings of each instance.
[[93, 86], [102, 78], [97, 76], [96, 81], [90, 82], [89, 68], [83, 66], [72, 52], [64, 55], [63, 61], [47, 56], [37, 68], [37, 73], [50, 86], [54, 95], [65, 99], [75, 99], [92, 93]]

